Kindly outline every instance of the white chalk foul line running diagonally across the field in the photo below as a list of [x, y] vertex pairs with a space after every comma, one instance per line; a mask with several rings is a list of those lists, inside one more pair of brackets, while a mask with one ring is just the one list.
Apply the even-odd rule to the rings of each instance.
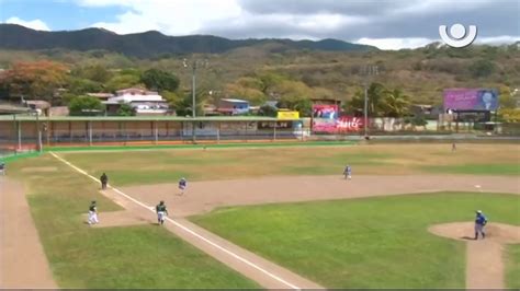
[[[95, 183], [100, 184], [100, 181], [99, 181], [98, 178], [95, 178], [94, 176], [91, 176], [89, 173], [87, 173], [87, 172], [84, 172], [83, 170], [81, 170], [81, 168], [75, 166], [74, 164], [71, 164], [71, 163], [68, 162], [67, 160], [63, 159], [61, 156], [55, 154], [54, 152], [49, 152], [49, 153], [50, 153], [54, 158], [56, 158], [57, 160], [59, 160], [60, 162], [65, 163], [66, 165], [68, 165], [68, 166], [70, 166], [70, 167], [72, 167], [72, 168], [76, 170], [77, 172], [79, 172], [79, 173], [86, 175], [87, 177], [91, 178], [91, 179], [94, 181]], [[152, 207], [143, 203], [142, 201], [139, 201], [139, 200], [137, 200], [137, 199], [135, 199], [135, 198], [133, 198], [133, 197], [131, 197], [131, 196], [124, 194], [123, 191], [121, 191], [120, 189], [117, 189], [117, 188], [115, 188], [115, 187], [113, 187], [113, 186], [108, 185], [108, 187], [111, 188], [111, 189], [113, 189], [113, 190], [114, 190], [115, 193], [117, 193], [118, 195], [121, 195], [121, 196], [127, 198], [128, 200], [133, 201], [134, 203], [137, 203], [138, 206], [142, 206], [142, 207], [146, 208], [147, 210], [149, 210], [149, 211], [151, 211], [151, 212], [155, 212]], [[171, 223], [173, 223], [173, 225], [176, 225], [176, 226], [180, 228], [181, 230], [183, 230], [183, 231], [190, 233], [191, 235], [195, 236], [196, 238], [199, 238], [199, 240], [201, 240], [201, 241], [203, 241], [203, 242], [210, 244], [210, 245], [213, 246], [213, 247], [218, 248], [219, 251], [222, 251], [222, 252], [228, 254], [229, 256], [231, 256], [231, 257], [234, 257], [234, 258], [236, 258], [236, 259], [238, 259], [238, 260], [245, 263], [246, 265], [248, 265], [248, 266], [250, 266], [250, 267], [252, 267], [252, 268], [255, 268], [255, 269], [257, 269], [257, 270], [259, 270], [259, 271], [265, 273], [267, 276], [273, 278], [274, 280], [286, 284], [286, 286], [290, 287], [291, 289], [301, 290], [301, 288], [298, 288], [298, 287], [296, 287], [296, 286], [294, 286], [294, 284], [292, 284], [292, 283], [290, 283], [290, 282], [283, 280], [282, 278], [278, 277], [276, 275], [274, 275], [274, 273], [272, 273], [272, 272], [270, 272], [270, 271], [268, 271], [268, 270], [265, 270], [265, 269], [259, 267], [259, 266], [256, 265], [255, 263], [252, 263], [252, 261], [250, 261], [250, 260], [248, 260], [248, 259], [246, 259], [246, 258], [244, 258], [244, 257], [241, 257], [241, 256], [239, 256], [239, 255], [233, 253], [231, 251], [229, 251], [229, 249], [227, 249], [227, 248], [225, 248], [225, 247], [218, 245], [217, 243], [212, 242], [211, 240], [208, 240], [208, 238], [202, 236], [201, 234], [196, 233], [195, 231], [193, 231], [193, 230], [191, 230], [191, 229], [189, 229], [189, 228], [186, 228], [186, 226], [180, 224], [179, 222], [177, 222], [177, 221], [174, 221], [174, 220], [172, 220], [172, 219], [170, 219], [170, 218], [168, 218], [168, 217], [167, 217], [166, 219], [167, 219], [167, 221], [170, 221]]]

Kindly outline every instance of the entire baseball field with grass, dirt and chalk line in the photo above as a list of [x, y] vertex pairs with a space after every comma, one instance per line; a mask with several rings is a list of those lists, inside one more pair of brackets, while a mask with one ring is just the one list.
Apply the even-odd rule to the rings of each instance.
[[[519, 144], [471, 143], [46, 152], [0, 176], [9, 234], [0, 279], [60, 288], [520, 288], [519, 158]], [[341, 175], [347, 164], [351, 181]], [[94, 226], [86, 224], [91, 200]], [[152, 210], [159, 200], [170, 212], [163, 226]], [[489, 223], [474, 241], [477, 209]], [[29, 277], [24, 257], [35, 261]]]

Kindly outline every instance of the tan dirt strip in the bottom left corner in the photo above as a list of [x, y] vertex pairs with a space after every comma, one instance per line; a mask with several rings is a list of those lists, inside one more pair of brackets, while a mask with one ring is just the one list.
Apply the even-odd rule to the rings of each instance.
[[56, 288], [24, 188], [0, 176], [0, 287]]

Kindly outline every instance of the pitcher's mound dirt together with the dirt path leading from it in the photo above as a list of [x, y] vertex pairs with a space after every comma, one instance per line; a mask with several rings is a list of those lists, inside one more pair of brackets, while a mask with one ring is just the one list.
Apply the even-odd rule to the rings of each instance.
[[489, 223], [486, 238], [474, 241], [472, 222], [455, 222], [433, 225], [433, 234], [467, 242], [466, 289], [504, 289], [504, 245], [520, 243], [520, 226]]

